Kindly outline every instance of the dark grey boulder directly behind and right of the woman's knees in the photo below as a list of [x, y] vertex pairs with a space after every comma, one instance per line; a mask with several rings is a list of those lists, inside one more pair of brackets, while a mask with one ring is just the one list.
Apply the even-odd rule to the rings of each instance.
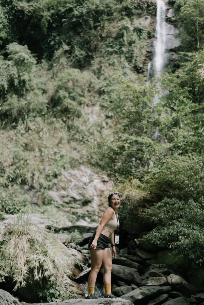
[[[100, 272], [103, 273], [103, 268], [101, 269]], [[133, 283], [134, 272], [135, 272], [134, 268], [113, 264], [111, 271], [112, 280], [122, 281], [127, 284]]]

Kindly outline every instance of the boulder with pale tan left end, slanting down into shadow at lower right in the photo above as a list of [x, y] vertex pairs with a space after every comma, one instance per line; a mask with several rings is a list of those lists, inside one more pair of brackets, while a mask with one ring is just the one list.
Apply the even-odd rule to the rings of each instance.
[[180, 292], [183, 296], [190, 297], [194, 291], [193, 287], [179, 275], [170, 274], [167, 281], [174, 290]]

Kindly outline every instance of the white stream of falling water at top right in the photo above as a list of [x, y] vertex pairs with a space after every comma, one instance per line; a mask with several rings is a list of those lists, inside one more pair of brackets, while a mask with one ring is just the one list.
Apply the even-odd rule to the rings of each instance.
[[164, 67], [165, 53], [165, 3], [157, 0], [157, 24], [154, 41], [154, 77], [159, 77]]

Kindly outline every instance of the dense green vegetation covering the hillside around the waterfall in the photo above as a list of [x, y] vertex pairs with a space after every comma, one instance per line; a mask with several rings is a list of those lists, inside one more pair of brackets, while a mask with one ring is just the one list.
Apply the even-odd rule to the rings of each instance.
[[145, 239], [174, 249], [171, 267], [203, 265], [204, 6], [169, 3], [182, 43], [158, 89], [145, 73], [154, 1], [1, 1], [0, 217], [53, 206], [61, 217], [48, 191], [86, 163], [122, 185], [124, 211], [150, 207]]

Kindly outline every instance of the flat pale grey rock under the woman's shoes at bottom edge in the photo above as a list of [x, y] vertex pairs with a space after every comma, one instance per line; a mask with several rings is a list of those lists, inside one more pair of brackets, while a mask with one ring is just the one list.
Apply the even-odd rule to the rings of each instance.
[[[63, 302], [52, 302], [51, 305], [132, 305], [128, 300], [119, 299], [71, 299]], [[21, 304], [20, 304], [21, 305]], [[50, 303], [33, 303], [32, 305], [50, 305]]]

